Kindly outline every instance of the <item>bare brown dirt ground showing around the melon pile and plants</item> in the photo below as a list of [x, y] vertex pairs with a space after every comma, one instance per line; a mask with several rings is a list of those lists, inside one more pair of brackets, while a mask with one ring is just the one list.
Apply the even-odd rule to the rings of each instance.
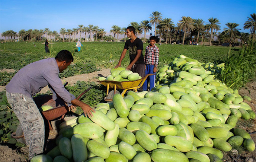
[[[69, 78], [64, 78], [63, 83], [68, 82], [70, 85], [76, 83], [76, 81], [96, 81], [97, 76], [108, 76], [110, 75], [110, 69], [102, 69], [98, 72], [93, 72], [90, 74], [81, 74], [77, 76], [72, 76]], [[3, 90], [4, 87], [3, 87]], [[42, 89], [41, 93], [47, 92], [49, 89]], [[0, 87], [1, 91], [1, 87]], [[252, 98], [251, 102], [247, 102], [254, 112], [256, 112], [256, 81], [250, 82], [246, 85], [246, 88], [239, 90], [241, 96], [248, 95]], [[65, 117], [64, 120], [69, 120], [74, 117]], [[60, 124], [60, 119], [52, 121], [53, 131], [50, 131], [48, 137], [47, 147], [51, 147], [55, 143], [54, 139], [57, 137], [57, 127]], [[252, 137], [253, 141], [256, 143], [256, 119], [245, 121], [239, 119], [237, 123], [238, 127], [243, 128]], [[0, 146], [0, 162], [28, 162], [27, 159], [27, 147], [12, 149], [8, 146]], [[223, 152], [223, 162], [256, 162], [256, 150], [253, 152], [241, 151], [241, 150], [231, 150], [230, 152]]]

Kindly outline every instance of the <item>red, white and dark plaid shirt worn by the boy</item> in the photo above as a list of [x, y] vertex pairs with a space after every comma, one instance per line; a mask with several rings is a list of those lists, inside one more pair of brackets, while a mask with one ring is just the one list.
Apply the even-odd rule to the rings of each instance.
[[158, 65], [159, 48], [156, 45], [146, 46], [144, 61], [146, 65]]

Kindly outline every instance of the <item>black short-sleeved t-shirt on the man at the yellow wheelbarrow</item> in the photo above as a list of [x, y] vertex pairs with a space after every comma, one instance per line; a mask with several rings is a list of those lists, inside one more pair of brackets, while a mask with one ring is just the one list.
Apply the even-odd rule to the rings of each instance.
[[[129, 50], [129, 56], [130, 56], [130, 63], [133, 62], [134, 58], [136, 57], [137, 50], [143, 51], [143, 42], [140, 40], [140, 38], [136, 38], [133, 43], [131, 42], [131, 39], [127, 40], [124, 44], [124, 49]], [[145, 64], [143, 53], [141, 51], [141, 55], [139, 59], [136, 61], [135, 64]]]

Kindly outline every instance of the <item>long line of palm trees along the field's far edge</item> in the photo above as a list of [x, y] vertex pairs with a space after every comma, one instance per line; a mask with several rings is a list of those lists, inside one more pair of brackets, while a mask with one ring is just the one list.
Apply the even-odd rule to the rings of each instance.
[[[244, 42], [248, 41], [249, 38], [256, 38], [256, 14], [253, 13], [250, 17], [247, 17], [248, 20], [244, 23], [243, 29], [249, 29], [250, 33], [239, 32], [241, 29], [237, 29], [239, 24], [227, 22], [226, 28], [223, 29], [223, 32], [218, 32], [220, 30], [219, 19], [209, 18], [208, 22], [205, 22], [203, 19], [192, 19], [190, 16], [182, 16], [179, 22], [174, 25], [174, 22], [171, 18], [164, 18], [162, 14], [158, 11], [154, 11], [150, 14], [150, 20], [143, 20], [140, 23], [131, 22], [129, 26], [134, 26], [136, 29], [136, 35], [142, 35], [144, 32], [143, 41], [146, 42], [146, 33], [150, 32], [154, 27], [154, 35], [158, 36], [159, 40], [164, 40], [165, 43], [180, 42], [182, 44], [185, 41], [194, 41], [196, 43], [203, 44], [205, 40], [209, 41], [209, 44], [212, 45], [213, 38], [218, 38], [219, 42], [227, 42], [231, 46], [239, 38], [243, 45]], [[85, 33], [85, 38], [82, 38], [82, 33]], [[18, 33], [13, 30], [8, 30], [2, 33], [2, 36], [8, 40], [13, 38], [18, 38], [21, 41], [42, 41], [43, 39], [49, 39], [50, 41], [76, 41], [76, 36], [79, 36], [80, 40], [84, 39], [86, 41], [86, 34], [89, 35], [89, 40], [97, 41], [101, 40], [113, 40], [116, 41], [119, 39], [119, 35], [124, 35], [124, 41], [126, 41], [126, 27], [119, 27], [118, 25], [113, 25], [110, 30], [112, 35], [106, 35], [104, 28], [99, 28], [99, 26], [94, 25], [78, 25], [77, 28], [65, 29], [61, 28], [59, 33], [57, 31], [50, 31], [49, 28], [45, 29], [29, 29], [25, 31], [24, 29], [20, 30]], [[45, 35], [45, 38], [43, 37]], [[150, 35], [153, 35], [150, 33]], [[199, 42], [200, 41], [200, 42]]]

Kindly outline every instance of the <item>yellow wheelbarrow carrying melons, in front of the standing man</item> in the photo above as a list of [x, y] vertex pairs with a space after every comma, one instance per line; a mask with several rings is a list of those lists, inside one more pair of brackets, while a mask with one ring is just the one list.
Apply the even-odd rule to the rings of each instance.
[[[113, 95], [116, 94], [116, 89], [123, 89], [123, 92], [121, 93], [121, 95], [123, 96], [127, 90], [133, 89], [134, 92], [137, 92], [138, 89], [143, 86], [144, 82], [146, 81], [148, 76], [151, 75], [155, 75], [155, 74], [147, 74], [144, 78], [135, 80], [135, 81], [123, 81], [123, 82], [117, 82], [117, 81], [113, 81], [113, 80], [102, 80], [102, 81], [98, 81], [100, 84], [103, 84], [104, 86], [106, 86], [106, 97], [104, 98], [104, 100], [106, 102], [111, 102], [113, 101]], [[109, 92], [109, 89], [113, 89], [113, 93]], [[111, 96], [110, 96], [111, 95]]]

